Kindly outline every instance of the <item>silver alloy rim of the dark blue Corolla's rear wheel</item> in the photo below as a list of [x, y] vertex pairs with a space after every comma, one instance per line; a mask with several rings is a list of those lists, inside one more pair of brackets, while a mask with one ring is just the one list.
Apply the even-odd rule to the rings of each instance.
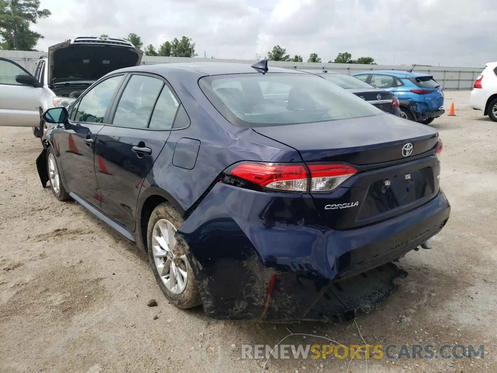
[[176, 228], [167, 219], [159, 220], [152, 233], [154, 263], [162, 282], [173, 294], [181, 294], [188, 280], [186, 255], [174, 254]]

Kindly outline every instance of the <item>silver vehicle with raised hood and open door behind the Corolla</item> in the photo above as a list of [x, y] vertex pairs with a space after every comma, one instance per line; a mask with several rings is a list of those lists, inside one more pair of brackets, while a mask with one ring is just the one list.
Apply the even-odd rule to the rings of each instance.
[[41, 137], [48, 108], [69, 106], [93, 82], [111, 71], [139, 66], [143, 52], [124, 39], [77, 37], [51, 46], [33, 74], [0, 58], [0, 126], [33, 127]]

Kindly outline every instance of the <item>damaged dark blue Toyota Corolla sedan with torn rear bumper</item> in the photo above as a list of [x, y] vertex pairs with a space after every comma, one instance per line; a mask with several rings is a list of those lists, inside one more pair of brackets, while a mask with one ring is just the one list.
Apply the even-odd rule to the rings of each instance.
[[449, 218], [433, 128], [264, 61], [114, 71], [43, 119], [42, 185], [147, 251], [173, 304], [216, 318], [368, 310]]

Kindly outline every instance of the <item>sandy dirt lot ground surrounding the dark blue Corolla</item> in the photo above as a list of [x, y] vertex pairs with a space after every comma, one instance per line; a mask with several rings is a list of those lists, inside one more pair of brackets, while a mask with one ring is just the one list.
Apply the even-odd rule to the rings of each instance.
[[[485, 359], [370, 360], [369, 372], [497, 372], [497, 124], [467, 105], [468, 92], [445, 97], [457, 116], [433, 125], [444, 144], [441, 184], [452, 215], [432, 250], [401, 260], [410, 275], [400, 289], [357, 323], [369, 344], [485, 344]], [[285, 327], [361, 344], [353, 322], [274, 326], [174, 308], [144, 253], [41, 187], [40, 143], [30, 129], [0, 127], [0, 147], [0, 372], [261, 372], [263, 362], [241, 360], [241, 344], [274, 345]], [[159, 305], [148, 307], [150, 299]], [[271, 360], [268, 372], [345, 372], [347, 365]], [[354, 361], [350, 372], [365, 368]]]

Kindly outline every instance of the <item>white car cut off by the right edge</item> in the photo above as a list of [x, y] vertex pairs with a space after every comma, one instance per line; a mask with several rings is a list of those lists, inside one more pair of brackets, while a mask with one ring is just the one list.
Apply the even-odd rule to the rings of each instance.
[[497, 122], [497, 62], [489, 62], [475, 81], [469, 104]]

